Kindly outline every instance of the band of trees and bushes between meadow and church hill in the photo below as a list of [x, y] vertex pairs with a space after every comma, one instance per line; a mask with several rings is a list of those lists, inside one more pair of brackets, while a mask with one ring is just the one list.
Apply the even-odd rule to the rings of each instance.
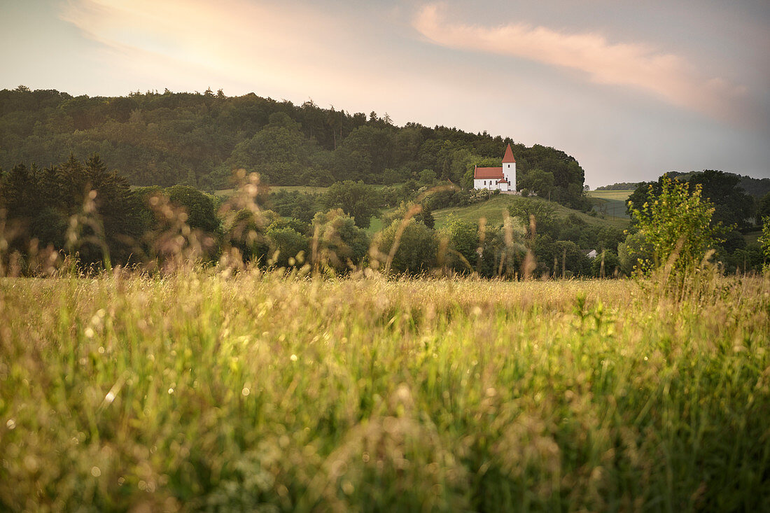
[[[451, 220], [435, 230], [432, 206], [492, 194], [447, 187], [383, 191], [346, 181], [310, 198], [313, 204], [300, 218], [282, 216], [269, 207], [282, 210], [296, 202], [282, 201], [287, 193], [267, 194], [254, 177], [225, 201], [190, 186], [132, 189], [96, 155], [85, 161], [70, 156], [45, 168], [18, 164], [0, 172], [0, 267], [4, 273], [45, 273], [68, 260], [80, 269], [157, 270], [196, 260], [310, 265], [334, 273], [384, 268], [482, 277], [597, 276], [603, 270], [581, 246], [614, 248], [623, 238], [620, 230], [591, 228], [577, 216], [559, 221], [551, 203], [525, 198], [511, 207], [507, 224]], [[361, 226], [369, 225], [378, 206], [397, 208], [370, 236]], [[528, 227], [530, 214], [537, 214], [539, 231]], [[565, 237], [575, 242], [560, 240]]]

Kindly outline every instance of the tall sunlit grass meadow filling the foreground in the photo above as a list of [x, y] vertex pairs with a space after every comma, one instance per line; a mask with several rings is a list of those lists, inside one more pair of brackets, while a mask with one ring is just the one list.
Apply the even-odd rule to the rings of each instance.
[[768, 511], [770, 277], [0, 280], [0, 511]]

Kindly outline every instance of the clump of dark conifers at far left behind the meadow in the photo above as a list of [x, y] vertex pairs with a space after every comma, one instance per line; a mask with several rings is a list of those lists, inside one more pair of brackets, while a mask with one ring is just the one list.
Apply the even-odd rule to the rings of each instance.
[[96, 155], [85, 163], [70, 156], [45, 169], [14, 166], [0, 176], [0, 210], [14, 233], [8, 252], [68, 249], [86, 265], [102, 263], [105, 255], [126, 263], [152, 218], [126, 179]]

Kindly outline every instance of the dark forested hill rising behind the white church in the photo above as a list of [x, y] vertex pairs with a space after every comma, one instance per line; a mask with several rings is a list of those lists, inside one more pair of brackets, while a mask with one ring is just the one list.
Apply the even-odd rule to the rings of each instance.
[[582, 202], [584, 173], [573, 157], [486, 132], [417, 123], [400, 127], [375, 112], [350, 114], [312, 101], [296, 106], [253, 93], [228, 97], [210, 89], [126, 97], [73, 97], [24, 86], [0, 91], [2, 168], [50, 166], [70, 153], [80, 158], [97, 153], [132, 185], [216, 189], [243, 167], [273, 185], [400, 183], [430, 169], [467, 186], [469, 169], [472, 175], [474, 164], [499, 165], [508, 142], [520, 182], [526, 185], [529, 173], [541, 169], [553, 175], [551, 199]]

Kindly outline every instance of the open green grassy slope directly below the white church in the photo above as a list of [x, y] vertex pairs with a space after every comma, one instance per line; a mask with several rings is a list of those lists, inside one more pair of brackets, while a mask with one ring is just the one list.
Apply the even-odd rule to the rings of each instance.
[[[484, 217], [488, 224], [500, 224], [503, 222], [504, 212], [507, 212], [508, 206], [517, 201], [520, 196], [514, 196], [510, 194], [499, 194], [492, 196], [491, 199], [483, 202], [476, 203], [470, 206], [451, 207], [448, 209], [434, 210], [433, 216], [436, 220], [436, 227], [439, 228], [447, 223], [450, 215], [453, 215], [460, 220], [470, 221], [471, 223], [478, 223], [480, 218]], [[545, 201], [545, 199], [542, 199]], [[566, 217], [567, 215], [574, 213], [580, 217], [586, 223], [591, 226], [609, 225], [616, 228], [625, 229], [628, 227], [628, 219], [622, 217], [607, 216], [605, 219], [600, 217], [589, 216], [586, 213], [579, 212], [578, 210], [572, 210], [566, 206], [558, 203], [551, 202], [554, 206], [556, 215], [559, 217]]]

